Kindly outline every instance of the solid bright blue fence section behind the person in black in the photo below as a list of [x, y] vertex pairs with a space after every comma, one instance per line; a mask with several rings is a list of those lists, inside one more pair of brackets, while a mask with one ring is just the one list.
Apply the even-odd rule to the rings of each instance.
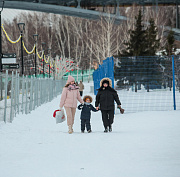
[[100, 87], [100, 81], [104, 77], [108, 77], [112, 80], [112, 87], [114, 88], [114, 58], [108, 57], [103, 60], [103, 64], [99, 65], [99, 68], [93, 72], [94, 81], [94, 94], [97, 94], [97, 89]]

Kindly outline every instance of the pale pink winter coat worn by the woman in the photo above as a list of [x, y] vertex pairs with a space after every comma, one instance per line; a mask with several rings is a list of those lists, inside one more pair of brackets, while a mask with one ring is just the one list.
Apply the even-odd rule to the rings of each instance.
[[84, 103], [84, 101], [81, 99], [81, 96], [79, 94], [79, 89], [76, 90], [68, 90], [67, 87], [63, 88], [62, 95], [61, 95], [61, 101], [60, 101], [60, 107], [70, 107], [70, 108], [77, 108], [77, 100], [80, 103]]

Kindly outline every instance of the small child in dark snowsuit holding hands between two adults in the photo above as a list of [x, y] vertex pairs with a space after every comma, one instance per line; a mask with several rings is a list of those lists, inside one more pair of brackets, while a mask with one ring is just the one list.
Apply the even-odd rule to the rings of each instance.
[[90, 118], [91, 118], [91, 111], [96, 112], [97, 110], [93, 107], [91, 104], [92, 97], [89, 95], [84, 96], [83, 98], [84, 104], [80, 104], [78, 106], [78, 109], [81, 110], [81, 132], [84, 133], [85, 127], [87, 129], [88, 133], [91, 133], [91, 124], [90, 124]]

